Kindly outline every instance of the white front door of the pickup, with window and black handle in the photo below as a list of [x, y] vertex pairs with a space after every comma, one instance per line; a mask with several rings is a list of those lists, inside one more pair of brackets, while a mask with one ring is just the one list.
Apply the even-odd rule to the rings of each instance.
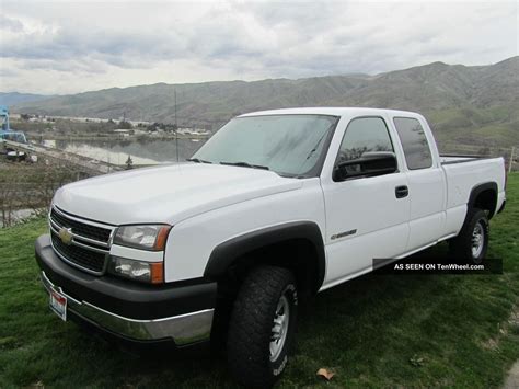
[[[353, 118], [335, 151], [334, 169], [339, 162], [357, 159], [365, 152], [395, 152], [395, 137], [385, 117]], [[345, 181], [328, 172], [321, 182], [326, 206], [328, 287], [370, 271], [373, 258], [392, 258], [404, 252], [410, 199], [397, 191], [407, 185], [405, 172], [399, 168], [384, 175]]]

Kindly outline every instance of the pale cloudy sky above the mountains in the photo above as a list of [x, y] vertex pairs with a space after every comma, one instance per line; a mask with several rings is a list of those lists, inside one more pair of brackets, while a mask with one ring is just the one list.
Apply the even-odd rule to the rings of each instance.
[[0, 91], [391, 71], [518, 55], [518, 2], [0, 0]]

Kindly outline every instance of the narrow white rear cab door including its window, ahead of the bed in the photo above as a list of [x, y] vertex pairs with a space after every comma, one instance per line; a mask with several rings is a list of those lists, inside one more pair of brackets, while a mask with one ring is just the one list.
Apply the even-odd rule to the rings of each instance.
[[[443, 232], [446, 208], [445, 173], [427, 124], [418, 117], [394, 116], [405, 156], [410, 191], [410, 240], [406, 251], [413, 251], [438, 240]], [[428, 128], [428, 127], [427, 127]]]

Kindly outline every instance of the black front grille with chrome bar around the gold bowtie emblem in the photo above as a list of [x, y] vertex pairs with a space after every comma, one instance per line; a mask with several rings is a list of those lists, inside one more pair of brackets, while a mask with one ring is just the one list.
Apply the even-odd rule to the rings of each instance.
[[[81, 221], [78, 217], [69, 217], [55, 208], [50, 210], [49, 221], [53, 247], [59, 256], [85, 272], [101, 275], [109, 253], [112, 229]], [[70, 229], [72, 232], [70, 244], [61, 241], [61, 228]]]

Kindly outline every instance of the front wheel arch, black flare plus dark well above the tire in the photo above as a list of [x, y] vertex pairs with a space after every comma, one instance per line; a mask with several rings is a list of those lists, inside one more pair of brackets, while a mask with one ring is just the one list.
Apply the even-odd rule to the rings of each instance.
[[[262, 259], [268, 252], [284, 253], [296, 250], [296, 259]], [[304, 282], [312, 293], [316, 293], [324, 281], [326, 260], [321, 229], [313, 221], [293, 221], [244, 233], [217, 245], [204, 271], [204, 277], [222, 279], [230, 270], [247, 268], [257, 263], [291, 267], [299, 282]], [[304, 278], [304, 279], [302, 279]]]

